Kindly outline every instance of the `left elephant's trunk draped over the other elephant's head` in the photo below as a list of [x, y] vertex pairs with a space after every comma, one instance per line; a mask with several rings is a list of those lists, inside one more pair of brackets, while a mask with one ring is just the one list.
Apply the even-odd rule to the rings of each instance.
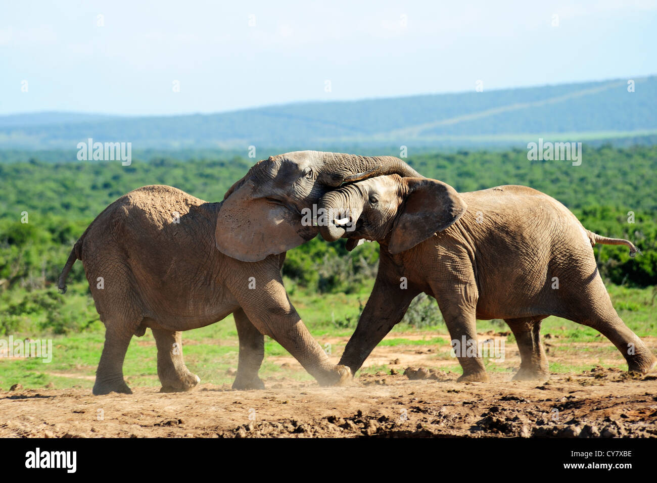
[[388, 174], [398, 174], [401, 177], [423, 177], [411, 166], [394, 156], [357, 156], [337, 152], [322, 154], [323, 181], [331, 187]]

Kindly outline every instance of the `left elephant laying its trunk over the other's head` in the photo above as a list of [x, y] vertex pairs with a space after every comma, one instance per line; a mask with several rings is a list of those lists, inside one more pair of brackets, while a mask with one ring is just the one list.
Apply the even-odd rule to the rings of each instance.
[[254, 165], [224, 196], [207, 203], [179, 189], [146, 186], [122, 196], [89, 225], [59, 277], [82, 260], [105, 325], [94, 394], [130, 393], [123, 377], [129, 342], [152, 329], [164, 391], [199, 382], [185, 366], [181, 331], [233, 313], [239, 337], [233, 388], [263, 388], [263, 334], [279, 342], [321, 384], [348, 379], [315, 341], [288, 299], [286, 250], [317, 235], [302, 210], [343, 182], [380, 173], [417, 176], [403, 161], [299, 151]]

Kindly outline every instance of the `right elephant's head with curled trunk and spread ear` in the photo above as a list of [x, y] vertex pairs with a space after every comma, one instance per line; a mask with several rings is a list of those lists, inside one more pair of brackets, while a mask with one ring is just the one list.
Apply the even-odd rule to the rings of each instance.
[[348, 238], [348, 250], [360, 239], [386, 242], [394, 255], [449, 227], [467, 205], [442, 181], [386, 175], [329, 191], [319, 208], [331, 214], [319, 226], [326, 241]]

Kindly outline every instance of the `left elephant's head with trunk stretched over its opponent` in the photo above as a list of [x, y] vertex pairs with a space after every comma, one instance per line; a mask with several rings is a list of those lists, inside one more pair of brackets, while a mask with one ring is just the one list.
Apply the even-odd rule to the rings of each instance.
[[217, 217], [219, 251], [242, 262], [258, 262], [290, 250], [317, 235], [302, 210], [342, 183], [396, 173], [419, 177], [392, 156], [355, 156], [296, 151], [256, 163], [224, 195]]

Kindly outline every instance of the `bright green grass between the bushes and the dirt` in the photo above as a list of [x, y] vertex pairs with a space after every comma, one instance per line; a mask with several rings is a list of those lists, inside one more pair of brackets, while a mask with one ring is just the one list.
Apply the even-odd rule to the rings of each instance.
[[[657, 333], [654, 320], [655, 292], [649, 288], [627, 288], [616, 285], [607, 285], [619, 315], [630, 329], [639, 336], [648, 336]], [[304, 323], [311, 331], [316, 340], [324, 346], [327, 340], [332, 340], [332, 358], [336, 359], [344, 349], [344, 342], [336, 342], [335, 338], [343, 338], [346, 341], [357, 323], [357, 318], [362, 306], [367, 301], [371, 287], [363, 287], [363, 290], [352, 294], [308, 294], [297, 288], [290, 296], [295, 307], [302, 315]], [[39, 292], [35, 290], [35, 292]], [[26, 388], [91, 388], [95, 370], [101, 355], [104, 340], [104, 328], [98, 319], [85, 285], [78, 284], [70, 287], [69, 292], [60, 296], [62, 300], [58, 310], [67, 316], [81, 320], [82, 323], [72, 323], [71, 327], [83, 327], [79, 332], [69, 330], [66, 334], [53, 334], [52, 330], [45, 328], [48, 317], [52, 317], [45, 311], [21, 315], [18, 317], [18, 325], [15, 331], [11, 331], [14, 340], [20, 337], [51, 338], [53, 340], [53, 360], [51, 363], [43, 363], [41, 359], [3, 359], [0, 358], [0, 388], [9, 389], [12, 384], [20, 383]], [[17, 304], [20, 296], [16, 293], [5, 293], [0, 297], [2, 304]], [[435, 302], [434, 302], [435, 304]], [[1, 307], [0, 307], [1, 308]], [[436, 308], [437, 310], [437, 308]], [[60, 314], [61, 315], [61, 314]], [[3, 319], [6, 320], [5, 317]], [[440, 317], [437, 320], [442, 320]], [[509, 331], [507, 325], [501, 325], [499, 321], [478, 321], [477, 330], [485, 333], [493, 330]], [[392, 337], [381, 342], [381, 346], [399, 348], [399, 352], [406, 348], [417, 346], [433, 346], [438, 352], [433, 355], [436, 360], [445, 360], [449, 352], [443, 350], [449, 344], [449, 340], [435, 334], [446, 334], [447, 329], [443, 323], [433, 327], [415, 328], [406, 324], [399, 324], [392, 330]], [[394, 334], [403, 334], [394, 336]], [[421, 338], [409, 338], [407, 334], [421, 334]], [[610, 358], [618, 359], [619, 367], [624, 366], [620, 354], [616, 354], [616, 348], [608, 340], [590, 327], [578, 325], [574, 322], [557, 317], [549, 317], [543, 321], [541, 329], [543, 341], [551, 344], [551, 354], [566, 357], [572, 353], [573, 359], [578, 354], [587, 354], [587, 358], [593, 363], [603, 363]], [[551, 338], [545, 338], [547, 334]], [[0, 336], [7, 339], [9, 335]], [[290, 378], [296, 380], [311, 380], [312, 378], [304, 371], [296, 371], [281, 367], [273, 358], [288, 357], [284, 348], [271, 340], [265, 338], [265, 361], [260, 371], [261, 377]], [[513, 334], [507, 337], [508, 342], [514, 342]], [[578, 342], [602, 342], [600, 347], [579, 346], [572, 347]], [[187, 331], [183, 334], [183, 354], [185, 362], [191, 371], [198, 374], [202, 382], [213, 384], [231, 384], [234, 376], [229, 375], [229, 369], [237, 369], [238, 341], [237, 331], [233, 317], [229, 316], [223, 321]], [[551, 359], [548, 354], [548, 359]], [[614, 357], [614, 356], [618, 357]], [[156, 370], [156, 347], [150, 331], [141, 338], [133, 338], [127, 355], [125, 357], [124, 374], [130, 386], [159, 386]], [[597, 362], [595, 362], [597, 361]], [[507, 372], [511, 368], [507, 363], [495, 363], [485, 359], [486, 368], [491, 372]], [[609, 365], [609, 363], [606, 363]], [[605, 365], [605, 366], [606, 366]], [[455, 361], [449, 367], [442, 367], [453, 373], [462, 373], [461, 367]], [[552, 361], [550, 369], [556, 373], [572, 371], [584, 371], [591, 369], [591, 363], [568, 364], [562, 361]], [[364, 369], [367, 373], [378, 371], [388, 372], [386, 365], [368, 367]]]

